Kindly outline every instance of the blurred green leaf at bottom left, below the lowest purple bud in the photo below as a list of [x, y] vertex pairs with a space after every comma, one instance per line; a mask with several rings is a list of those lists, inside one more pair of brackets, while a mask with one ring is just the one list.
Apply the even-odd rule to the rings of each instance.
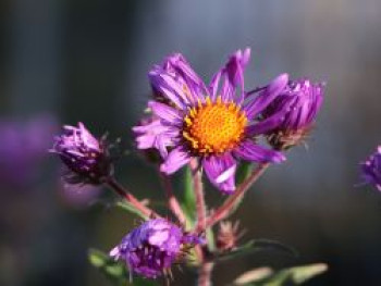
[[144, 279], [140, 277], [133, 277], [130, 283], [130, 274], [125, 264], [115, 261], [103, 251], [97, 249], [89, 249], [88, 260], [100, 272], [102, 272], [113, 285], [125, 286], [155, 286], [157, 285], [152, 281]]

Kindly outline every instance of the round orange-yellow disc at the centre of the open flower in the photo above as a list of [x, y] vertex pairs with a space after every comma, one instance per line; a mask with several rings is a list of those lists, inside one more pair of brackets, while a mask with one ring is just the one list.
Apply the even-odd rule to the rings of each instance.
[[189, 109], [184, 119], [183, 137], [198, 153], [222, 153], [241, 141], [247, 117], [234, 102], [216, 102], [207, 98], [206, 103]]

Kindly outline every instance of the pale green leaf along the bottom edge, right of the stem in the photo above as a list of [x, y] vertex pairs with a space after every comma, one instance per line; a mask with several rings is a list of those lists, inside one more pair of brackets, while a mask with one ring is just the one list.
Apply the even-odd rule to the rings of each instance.
[[[266, 269], [266, 273], [260, 273], [261, 269], [253, 270], [239, 275], [233, 285], [239, 286], [290, 286], [300, 285], [306, 281], [320, 275], [328, 270], [324, 263], [302, 265], [273, 272]], [[262, 269], [263, 270], [263, 269]], [[263, 275], [265, 274], [265, 275]]]

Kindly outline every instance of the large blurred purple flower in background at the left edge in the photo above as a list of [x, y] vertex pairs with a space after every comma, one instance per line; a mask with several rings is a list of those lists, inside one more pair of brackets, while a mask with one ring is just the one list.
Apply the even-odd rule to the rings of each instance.
[[46, 158], [56, 130], [52, 117], [44, 115], [22, 123], [0, 121], [0, 185], [29, 186]]

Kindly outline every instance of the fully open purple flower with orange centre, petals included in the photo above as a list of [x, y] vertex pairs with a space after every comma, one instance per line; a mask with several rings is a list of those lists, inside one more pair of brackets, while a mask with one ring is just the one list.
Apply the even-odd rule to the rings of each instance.
[[198, 158], [210, 182], [223, 192], [232, 194], [237, 159], [275, 163], [285, 159], [255, 140], [256, 135], [273, 128], [284, 112], [260, 123], [255, 120], [285, 88], [288, 77], [283, 74], [256, 98], [247, 97], [243, 74], [249, 55], [249, 49], [231, 55], [209, 87], [181, 54], [169, 57], [149, 72], [151, 85], [165, 100], [148, 103], [157, 117], [156, 126], [140, 129], [137, 141], [142, 149], [160, 150], [164, 160], [162, 172], [172, 174], [192, 158]]

